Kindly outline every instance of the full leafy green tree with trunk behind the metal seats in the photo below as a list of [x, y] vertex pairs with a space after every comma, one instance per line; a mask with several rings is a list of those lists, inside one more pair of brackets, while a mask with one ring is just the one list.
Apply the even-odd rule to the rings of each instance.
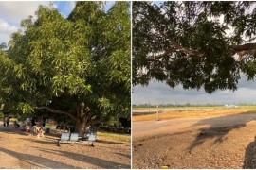
[[130, 4], [104, 5], [77, 2], [68, 18], [40, 6], [21, 22], [0, 51], [4, 112], [66, 115], [81, 133], [130, 115]]

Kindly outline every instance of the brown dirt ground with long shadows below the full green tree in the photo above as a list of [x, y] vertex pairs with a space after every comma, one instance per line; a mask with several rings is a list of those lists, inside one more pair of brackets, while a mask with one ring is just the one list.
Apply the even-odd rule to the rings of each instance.
[[11, 169], [128, 169], [131, 144], [100, 138], [89, 144], [61, 144], [60, 133], [36, 138], [0, 123], [0, 168]]

